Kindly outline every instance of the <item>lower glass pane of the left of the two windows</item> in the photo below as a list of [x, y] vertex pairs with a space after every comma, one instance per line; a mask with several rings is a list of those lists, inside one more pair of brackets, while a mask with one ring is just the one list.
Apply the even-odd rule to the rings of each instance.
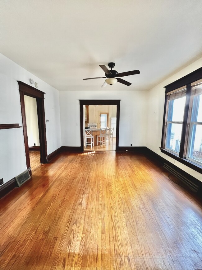
[[179, 153], [181, 141], [182, 124], [169, 123], [166, 133], [166, 148]]

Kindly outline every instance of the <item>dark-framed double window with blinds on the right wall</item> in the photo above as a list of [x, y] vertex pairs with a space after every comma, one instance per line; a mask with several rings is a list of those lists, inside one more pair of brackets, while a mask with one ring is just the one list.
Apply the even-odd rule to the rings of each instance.
[[202, 173], [202, 68], [165, 88], [161, 151]]

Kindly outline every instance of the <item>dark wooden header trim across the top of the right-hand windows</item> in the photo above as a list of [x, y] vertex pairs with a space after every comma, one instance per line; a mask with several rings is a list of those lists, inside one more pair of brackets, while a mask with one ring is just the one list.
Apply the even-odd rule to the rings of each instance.
[[168, 93], [184, 85], [198, 81], [201, 78], [202, 78], [202, 67], [178, 79], [177, 81], [164, 86], [164, 88], [166, 88], [166, 93]]

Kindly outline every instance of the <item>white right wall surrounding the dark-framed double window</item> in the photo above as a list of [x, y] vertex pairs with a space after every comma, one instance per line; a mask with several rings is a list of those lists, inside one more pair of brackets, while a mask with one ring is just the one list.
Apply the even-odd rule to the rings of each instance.
[[162, 126], [163, 126], [163, 110], [164, 110], [164, 101], [165, 101], [165, 88], [164, 86], [176, 81], [177, 79], [182, 78], [183, 76], [193, 72], [196, 69], [199, 69], [202, 66], [202, 58], [195, 61], [193, 64], [190, 64], [186, 68], [177, 72], [175, 75], [164, 80], [162, 83], [159, 83], [157, 86], [149, 90], [148, 92], [148, 125], [147, 125], [147, 138], [146, 146], [162, 156], [164, 159], [167, 159], [171, 163], [175, 164], [177, 167], [183, 169], [185, 172], [191, 174], [195, 178], [202, 181], [201, 173], [198, 173], [191, 168], [183, 165], [175, 159], [167, 156], [166, 154], [161, 153], [159, 147], [161, 146], [161, 135], [162, 135]]

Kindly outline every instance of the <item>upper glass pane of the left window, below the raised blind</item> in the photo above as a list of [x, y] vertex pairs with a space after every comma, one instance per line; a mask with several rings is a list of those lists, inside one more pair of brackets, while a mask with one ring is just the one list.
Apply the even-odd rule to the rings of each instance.
[[186, 97], [181, 97], [169, 101], [168, 121], [183, 121], [185, 101]]

